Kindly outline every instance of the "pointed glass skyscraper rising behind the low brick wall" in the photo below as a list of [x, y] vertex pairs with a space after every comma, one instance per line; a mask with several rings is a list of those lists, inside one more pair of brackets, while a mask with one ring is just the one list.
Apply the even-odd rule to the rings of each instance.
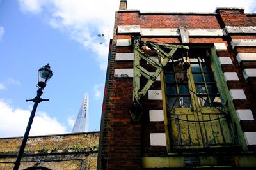
[[88, 118], [89, 118], [88, 110], [89, 110], [89, 95], [88, 93], [85, 93], [72, 133], [88, 131]]

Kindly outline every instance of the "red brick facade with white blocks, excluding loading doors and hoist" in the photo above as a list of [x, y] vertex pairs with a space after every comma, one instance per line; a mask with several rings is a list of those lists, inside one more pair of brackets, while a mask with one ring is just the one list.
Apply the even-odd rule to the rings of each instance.
[[[256, 68], [256, 56], [249, 59], [249, 55], [243, 55], [256, 53], [255, 14], [244, 13], [243, 8], [217, 8], [214, 13], [141, 13], [127, 10], [124, 3], [126, 1], [121, 1], [120, 10], [116, 11], [109, 49], [98, 169], [182, 168], [189, 165], [191, 157], [198, 160], [194, 167], [256, 166], [253, 163], [256, 160], [256, 75], [253, 70], [248, 70]], [[134, 52], [133, 34], [139, 34], [143, 41], [182, 45], [180, 27], [189, 32], [189, 43], [184, 45], [209, 46], [220, 61], [218, 74], [223, 77], [223, 86], [228, 92], [225, 104], [231, 110], [231, 122], [236, 129], [237, 152], [227, 152], [233, 149], [223, 147], [218, 153], [206, 150], [200, 153], [187, 151], [187, 155], [184, 152], [169, 153], [170, 144], [165, 136], [168, 127], [164, 123], [167, 120], [154, 120], [154, 114], [161, 113], [164, 105], [162, 98], [157, 96], [161, 92], [161, 81], [155, 81], [150, 92], [142, 97], [144, 112], [140, 122], [134, 123], [131, 119], [133, 76], [129, 75], [133, 74], [133, 60], [127, 55], [124, 60], [119, 56]], [[148, 71], [154, 71], [146, 62], [141, 60], [140, 64]], [[150, 99], [149, 94], [156, 96]], [[224, 158], [228, 159], [225, 159], [226, 163]]]

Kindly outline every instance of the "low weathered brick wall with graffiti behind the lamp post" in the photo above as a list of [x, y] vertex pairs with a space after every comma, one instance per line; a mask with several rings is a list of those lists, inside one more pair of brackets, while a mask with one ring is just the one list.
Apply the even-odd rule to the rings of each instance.
[[[0, 138], [0, 169], [13, 169], [22, 138]], [[30, 136], [19, 169], [96, 169], [99, 132]]]

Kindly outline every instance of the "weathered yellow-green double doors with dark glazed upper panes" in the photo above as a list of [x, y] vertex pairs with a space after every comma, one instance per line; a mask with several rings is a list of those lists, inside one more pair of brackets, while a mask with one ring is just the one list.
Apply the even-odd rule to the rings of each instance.
[[[163, 69], [170, 150], [204, 149], [234, 145], [220, 82], [214, 74], [210, 48], [191, 48], [184, 71], [181, 60]], [[223, 95], [223, 94], [222, 94]]]

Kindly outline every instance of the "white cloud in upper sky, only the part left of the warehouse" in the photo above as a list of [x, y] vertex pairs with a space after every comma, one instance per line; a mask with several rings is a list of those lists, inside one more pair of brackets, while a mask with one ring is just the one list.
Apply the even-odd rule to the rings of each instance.
[[[44, 16], [49, 25], [92, 50], [100, 69], [106, 71], [109, 36], [112, 35], [118, 1], [20, 0], [19, 3], [22, 11], [46, 13]], [[98, 37], [98, 34], [104, 36]]]

